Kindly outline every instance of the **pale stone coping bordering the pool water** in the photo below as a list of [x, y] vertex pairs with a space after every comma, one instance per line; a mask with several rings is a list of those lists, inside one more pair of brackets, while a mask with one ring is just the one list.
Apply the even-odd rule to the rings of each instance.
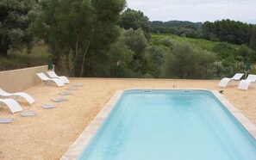
[[[77, 159], [80, 155], [81, 151], [84, 150], [85, 145], [88, 145], [91, 138], [97, 132], [97, 129], [103, 124], [103, 121], [107, 118], [112, 108], [115, 107], [116, 102], [120, 99], [123, 92], [128, 90], [136, 90], [136, 89], [151, 89], [151, 90], [159, 90], [156, 88], [132, 88], [132, 89], [119, 89], [116, 91], [114, 95], [109, 99], [109, 101], [103, 106], [100, 112], [96, 115], [96, 117], [91, 120], [88, 126], [85, 127], [84, 131], [78, 136], [78, 138], [72, 143], [72, 145], [68, 148], [66, 153], [60, 158], [61, 160], [66, 159]], [[222, 103], [222, 105], [228, 109], [229, 113], [234, 116], [234, 118], [243, 126], [247, 132], [249, 132], [253, 138], [256, 139], [256, 126], [248, 120], [237, 108], [228, 102], [228, 100], [221, 95], [218, 91], [209, 90], [209, 89], [162, 89], [162, 90], [204, 90], [209, 91]]]

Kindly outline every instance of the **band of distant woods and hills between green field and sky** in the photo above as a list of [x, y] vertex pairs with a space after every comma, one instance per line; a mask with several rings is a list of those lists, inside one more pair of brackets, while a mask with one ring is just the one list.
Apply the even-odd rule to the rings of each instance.
[[153, 34], [174, 34], [184, 38], [205, 39], [249, 46], [253, 37], [251, 24], [222, 20], [215, 22], [150, 22]]

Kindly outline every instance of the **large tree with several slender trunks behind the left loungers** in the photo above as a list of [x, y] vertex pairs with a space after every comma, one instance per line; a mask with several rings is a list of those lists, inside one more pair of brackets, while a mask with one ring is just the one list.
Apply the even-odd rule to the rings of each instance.
[[[89, 0], [42, 0], [40, 9], [32, 16], [35, 17], [34, 34], [46, 41], [55, 65], [59, 65], [59, 58], [66, 56], [66, 72], [72, 76], [78, 75], [78, 60], [83, 58], [81, 55], [90, 45], [95, 19], [91, 12], [93, 8]], [[72, 70], [69, 68], [71, 52]]]

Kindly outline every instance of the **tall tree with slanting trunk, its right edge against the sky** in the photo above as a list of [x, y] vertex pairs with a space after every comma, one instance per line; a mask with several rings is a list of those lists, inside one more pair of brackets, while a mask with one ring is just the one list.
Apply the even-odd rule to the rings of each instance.
[[[109, 51], [111, 44], [116, 42], [120, 36], [120, 13], [126, 6], [125, 0], [93, 0], [91, 5], [95, 9], [96, 21], [93, 22], [93, 41], [91, 51], [88, 52], [88, 59], [103, 58], [106, 51]], [[84, 61], [85, 62], [85, 61]], [[89, 63], [88, 63], [89, 64]], [[82, 67], [86, 66], [82, 64]], [[89, 66], [89, 65], [87, 65]], [[89, 66], [94, 67], [94, 66]], [[84, 75], [82, 69], [80, 77]]]

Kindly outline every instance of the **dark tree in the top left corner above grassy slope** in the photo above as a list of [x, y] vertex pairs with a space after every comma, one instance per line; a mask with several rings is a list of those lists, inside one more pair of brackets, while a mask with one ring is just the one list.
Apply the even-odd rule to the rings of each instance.
[[35, 0], [0, 1], [0, 55], [7, 56], [10, 47], [22, 50], [27, 46], [29, 52], [33, 36], [28, 29], [28, 13], [36, 5]]

